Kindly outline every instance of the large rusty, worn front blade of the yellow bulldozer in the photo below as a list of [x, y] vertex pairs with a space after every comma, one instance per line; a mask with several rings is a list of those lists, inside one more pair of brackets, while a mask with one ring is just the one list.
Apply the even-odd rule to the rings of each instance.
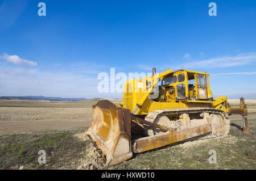
[[100, 100], [93, 107], [93, 120], [88, 134], [106, 156], [105, 166], [121, 163], [131, 152], [131, 113], [109, 100]]

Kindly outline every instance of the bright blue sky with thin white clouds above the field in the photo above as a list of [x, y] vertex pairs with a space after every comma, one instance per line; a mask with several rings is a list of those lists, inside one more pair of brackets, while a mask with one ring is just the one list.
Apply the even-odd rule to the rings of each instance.
[[256, 98], [255, 32], [255, 1], [0, 0], [0, 95], [121, 98], [97, 92], [98, 73], [155, 67], [207, 71], [215, 96]]

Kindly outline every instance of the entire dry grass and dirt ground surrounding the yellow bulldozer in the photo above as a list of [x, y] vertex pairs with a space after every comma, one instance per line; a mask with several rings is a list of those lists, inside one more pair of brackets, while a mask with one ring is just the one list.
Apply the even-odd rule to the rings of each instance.
[[[82, 137], [92, 120], [94, 103], [0, 101], [0, 169], [81, 168], [92, 144]], [[238, 103], [230, 102], [233, 106]], [[256, 169], [255, 107], [256, 101], [250, 100], [249, 134], [241, 132], [241, 117], [232, 115], [228, 137], [134, 154], [128, 161], [104, 169]], [[41, 149], [47, 153], [43, 165], [37, 162]], [[216, 150], [216, 164], [209, 164], [209, 150]]]

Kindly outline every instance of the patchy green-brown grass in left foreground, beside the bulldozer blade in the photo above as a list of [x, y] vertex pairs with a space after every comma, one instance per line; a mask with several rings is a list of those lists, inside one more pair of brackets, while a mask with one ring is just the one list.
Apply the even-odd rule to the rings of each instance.
[[[31, 132], [0, 136], [0, 169], [77, 169], [89, 141], [75, 136], [85, 129]], [[38, 163], [38, 151], [46, 151], [46, 164]]]

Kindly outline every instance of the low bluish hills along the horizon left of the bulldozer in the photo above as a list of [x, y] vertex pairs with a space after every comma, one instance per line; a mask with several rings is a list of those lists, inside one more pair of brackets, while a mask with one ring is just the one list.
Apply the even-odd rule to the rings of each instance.
[[0, 100], [51, 100], [51, 101], [82, 101], [82, 100], [88, 100], [85, 98], [61, 98], [61, 97], [47, 97], [47, 96], [0, 96]]

